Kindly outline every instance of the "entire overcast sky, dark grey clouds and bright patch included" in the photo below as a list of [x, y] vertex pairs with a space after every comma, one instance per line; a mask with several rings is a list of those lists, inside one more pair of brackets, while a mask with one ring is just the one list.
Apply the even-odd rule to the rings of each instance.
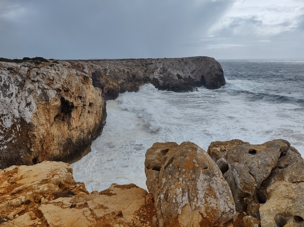
[[0, 57], [304, 59], [304, 0], [0, 0]]

